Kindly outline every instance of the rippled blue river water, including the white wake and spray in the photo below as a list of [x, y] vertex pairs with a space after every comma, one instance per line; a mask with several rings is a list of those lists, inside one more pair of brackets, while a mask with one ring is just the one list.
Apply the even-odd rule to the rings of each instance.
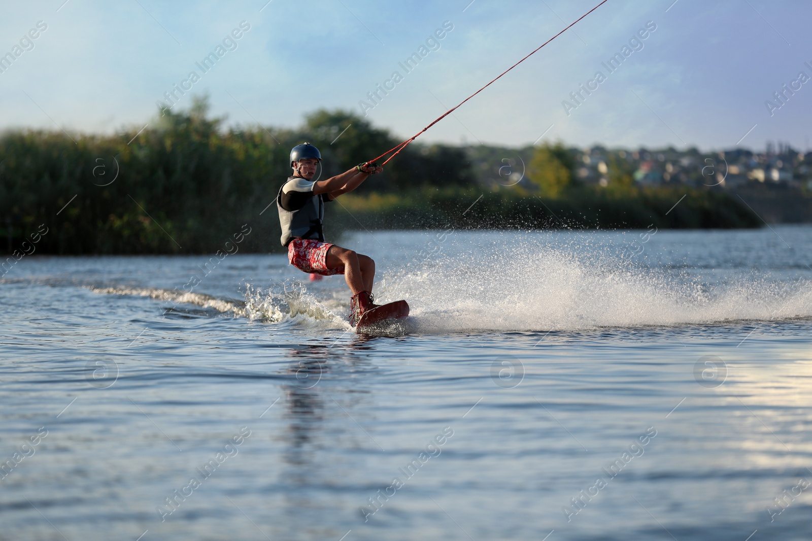
[[283, 255], [15, 264], [0, 539], [810, 539], [809, 226], [344, 244], [388, 336]]

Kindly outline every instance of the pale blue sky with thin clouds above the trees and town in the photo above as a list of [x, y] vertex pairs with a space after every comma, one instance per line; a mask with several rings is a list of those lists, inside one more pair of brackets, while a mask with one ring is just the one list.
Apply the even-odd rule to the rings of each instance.
[[[140, 129], [190, 71], [200, 80], [189, 92], [208, 93], [228, 122], [294, 127], [321, 107], [361, 114], [367, 92], [399, 71], [403, 80], [366, 114], [406, 138], [599, 0], [266, 1], [6, 2], [0, 54], [38, 21], [47, 29], [0, 73], [0, 128]], [[812, 81], [783, 105], [773, 93], [800, 71], [812, 77], [810, 20], [806, 0], [609, 0], [421, 140], [524, 145], [546, 132], [542, 140], [581, 146], [719, 149], [747, 134], [741, 146], [783, 140], [805, 150]], [[196, 62], [242, 21], [250, 29], [236, 49], [204, 74]], [[439, 49], [432, 42], [406, 73], [399, 62], [446, 21], [453, 30]], [[642, 49], [607, 71], [602, 62], [650, 21]], [[569, 93], [597, 71], [606, 79], [567, 114], [562, 102], [576, 105]], [[770, 99], [781, 105], [772, 114]]]

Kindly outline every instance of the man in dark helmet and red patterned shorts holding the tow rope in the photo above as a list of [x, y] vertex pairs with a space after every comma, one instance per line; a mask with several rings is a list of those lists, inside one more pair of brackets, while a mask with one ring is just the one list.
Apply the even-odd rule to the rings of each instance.
[[305, 273], [344, 275], [352, 290], [349, 320], [356, 327], [365, 311], [378, 307], [372, 294], [375, 262], [368, 255], [324, 241], [324, 204], [355, 190], [370, 174], [381, 173], [383, 168], [365, 163], [314, 182], [319, 161], [322, 154], [312, 144], [297, 144], [291, 150], [293, 174], [276, 197], [282, 245], [287, 247], [291, 264]]

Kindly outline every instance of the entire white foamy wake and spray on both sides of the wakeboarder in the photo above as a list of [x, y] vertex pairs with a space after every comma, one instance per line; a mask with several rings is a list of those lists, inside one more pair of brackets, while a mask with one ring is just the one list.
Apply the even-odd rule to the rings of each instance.
[[[723, 271], [715, 281], [697, 268], [642, 268], [594, 252], [514, 244], [438, 257], [384, 273], [376, 298], [404, 298], [415, 333], [582, 331], [680, 327], [745, 321], [812, 319], [812, 281]], [[220, 314], [292, 322], [305, 328], [349, 328], [342, 285], [311, 292], [298, 281], [248, 285], [244, 300], [182, 290], [91, 287], [101, 294], [140, 295]]]

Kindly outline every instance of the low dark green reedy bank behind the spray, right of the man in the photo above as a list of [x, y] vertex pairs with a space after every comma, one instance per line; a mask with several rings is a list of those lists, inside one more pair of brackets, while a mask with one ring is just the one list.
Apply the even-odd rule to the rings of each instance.
[[651, 187], [617, 193], [584, 187], [563, 198], [516, 191], [426, 189], [408, 194], [343, 195], [330, 208], [342, 229], [735, 229], [762, 225], [721, 191]]

